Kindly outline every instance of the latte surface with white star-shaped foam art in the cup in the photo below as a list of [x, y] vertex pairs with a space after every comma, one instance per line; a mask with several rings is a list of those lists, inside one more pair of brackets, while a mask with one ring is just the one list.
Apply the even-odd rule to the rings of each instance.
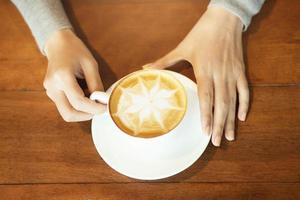
[[142, 138], [163, 135], [182, 120], [187, 107], [184, 87], [163, 70], [140, 70], [113, 89], [109, 112], [125, 133]]

